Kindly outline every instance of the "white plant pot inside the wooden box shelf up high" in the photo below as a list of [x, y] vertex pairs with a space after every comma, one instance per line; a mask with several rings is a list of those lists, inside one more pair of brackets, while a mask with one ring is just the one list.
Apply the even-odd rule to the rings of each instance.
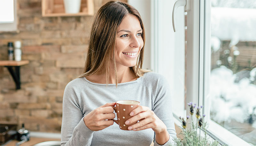
[[81, 0], [64, 0], [65, 13], [79, 13]]

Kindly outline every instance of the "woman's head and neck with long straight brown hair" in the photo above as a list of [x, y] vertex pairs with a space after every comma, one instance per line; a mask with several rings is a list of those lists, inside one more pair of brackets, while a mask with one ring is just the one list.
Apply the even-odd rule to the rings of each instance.
[[[141, 77], [148, 72], [142, 69], [143, 33], [140, 14], [132, 6], [116, 2], [102, 6], [94, 19], [84, 74], [80, 77], [97, 83], [116, 83], [116, 87]], [[117, 72], [127, 74], [123, 78]]]

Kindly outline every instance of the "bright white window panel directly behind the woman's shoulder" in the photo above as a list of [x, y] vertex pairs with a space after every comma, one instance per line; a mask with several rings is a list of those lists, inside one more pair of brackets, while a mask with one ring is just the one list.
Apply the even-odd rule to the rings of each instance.
[[151, 1], [151, 69], [168, 80], [173, 113], [186, 116], [184, 7], [176, 11], [177, 33], [174, 33], [172, 15], [166, 15], [172, 14], [173, 4], [174, 1]]

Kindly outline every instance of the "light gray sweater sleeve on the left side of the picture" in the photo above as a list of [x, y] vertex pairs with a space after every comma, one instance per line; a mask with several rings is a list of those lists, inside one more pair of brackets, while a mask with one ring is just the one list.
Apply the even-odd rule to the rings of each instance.
[[86, 127], [84, 115], [79, 106], [78, 93], [69, 83], [63, 95], [61, 146], [89, 146], [92, 142], [93, 131]]

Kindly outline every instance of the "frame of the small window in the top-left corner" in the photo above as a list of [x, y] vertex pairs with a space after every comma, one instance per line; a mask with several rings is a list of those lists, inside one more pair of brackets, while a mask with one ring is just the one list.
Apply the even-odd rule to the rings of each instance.
[[19, 32], [18, 31], [18, 16], [17, 16], [17, 0], [13, 0], [14, 4], [14, 22], [0, 23], [0, 32]]

